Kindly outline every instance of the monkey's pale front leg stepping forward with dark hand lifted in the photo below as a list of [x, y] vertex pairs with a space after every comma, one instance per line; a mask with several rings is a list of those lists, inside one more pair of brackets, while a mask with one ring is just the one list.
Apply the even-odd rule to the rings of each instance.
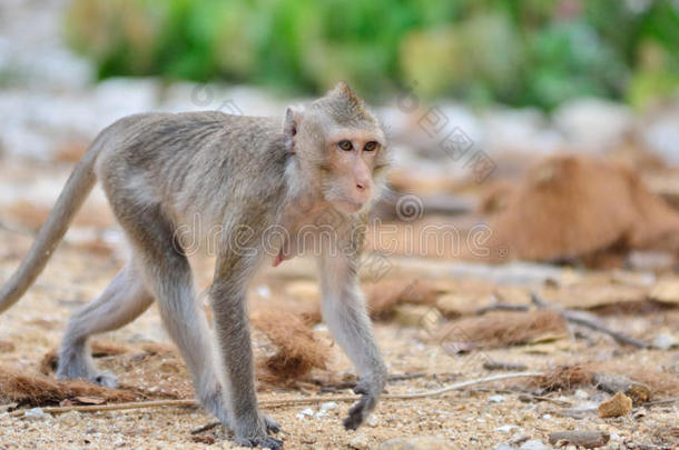
[[375, 409], [387, 376], [356, 270], [357, 257], [340, 253], [322, 258], [323, 317], [361, 376], [354, 392], [363, 396], [344, 419], [344, 427], [351, 430], [358, 428]]

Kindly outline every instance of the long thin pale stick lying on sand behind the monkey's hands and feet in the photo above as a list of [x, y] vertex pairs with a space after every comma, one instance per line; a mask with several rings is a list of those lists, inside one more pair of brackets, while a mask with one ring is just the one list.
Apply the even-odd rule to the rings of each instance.
[[[434, 389], [424, 392], [413, 393], [387, 393], [382, 396], [385, 400], [409, 400], [409, 399], [422, 399], [427, 397], [439, 397], [443, 393], [466, 388], [475, 384], [490, 383], [493, 381], [509, 380], [513, 378], [530, 378], [530, 377], [544, 377], [542, 372], [518, 372], [518, 373], [503, 373], [494, 377], [479, 378], [475, 380], [463, 381], [446, 386], [441, 389]], [[356, 401], [361, 397], [358, 396], [316, 396], [307, 398], [294, 398], [294, 399], [282, 399], [282, 400], [262, 400], [259, 407], [264, 409], [292, 407], [296, 404], [312, 404], [326, 401]], [[156, 400], [156, 401], [135, 401], [129, 403], [115, 403], [115, 404], [87, 404], [87, 406], [71, 406], [71, 407], [46, 407], [42, 408], [42, 412], [47, 413], [62, 413], [69, 411], [79, 412], [96, 412], [96, 411], [121, 411], [129, 409], [140, 408], [161, 408], [161, 407], [196, 407], [198, 403], [195, 400]], [[23, 416], [26, 410], [12, 411], [9, 417]]]

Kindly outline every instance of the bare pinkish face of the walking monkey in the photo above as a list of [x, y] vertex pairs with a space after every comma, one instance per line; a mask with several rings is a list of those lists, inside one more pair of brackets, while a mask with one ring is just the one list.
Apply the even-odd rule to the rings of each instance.
[[323, 193], [338, 210], [354, 213], [380, 189], [375, 172], [384, 166], [382, 133], [362, 129], [337, 129], [324, 142]]

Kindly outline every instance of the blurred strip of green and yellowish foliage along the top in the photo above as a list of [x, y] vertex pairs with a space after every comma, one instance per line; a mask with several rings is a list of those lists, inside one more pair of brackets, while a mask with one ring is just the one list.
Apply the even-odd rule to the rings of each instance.
[[679, 87], [675, 0], [72, 0], [68, 41], [99, 77], [163, 76], [368, 96], [415, 86], [551, 109], [642, 107]]

